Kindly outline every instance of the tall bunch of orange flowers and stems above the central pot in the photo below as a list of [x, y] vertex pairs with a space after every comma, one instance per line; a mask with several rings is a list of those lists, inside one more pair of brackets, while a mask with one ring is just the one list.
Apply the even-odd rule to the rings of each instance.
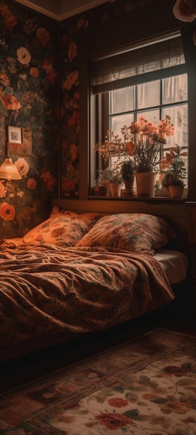
[[155, 169], [157, 156], [161, 145], [166, 143], [166, 137], [174, 134], [174, 126], [166, 115], [158, 124], [145, 120], [140, 116], [137, 122], [121, 129], [124, 138], [124, 148], [127, 154], [133, 156], [137, 172], [152, 172]]

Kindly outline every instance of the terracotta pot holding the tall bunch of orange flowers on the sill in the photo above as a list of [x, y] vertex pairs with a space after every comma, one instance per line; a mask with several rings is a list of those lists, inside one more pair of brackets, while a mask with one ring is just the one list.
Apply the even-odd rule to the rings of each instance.
[[138, 197], [154, 197], [156, 172], [136, 172]]

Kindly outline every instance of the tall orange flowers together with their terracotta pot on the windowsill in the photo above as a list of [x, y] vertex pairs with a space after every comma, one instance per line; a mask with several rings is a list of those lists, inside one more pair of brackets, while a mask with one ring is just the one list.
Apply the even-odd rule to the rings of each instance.
[[140, 116], [137, 122], [124, 126], [121, 131], [126, 149], [136, 163], [138, 196], [154, 196], [157, 156], [161, 145], [166, 143], [166, 136], [174, 134], [170, 117], [166, 115], [156, 125]]

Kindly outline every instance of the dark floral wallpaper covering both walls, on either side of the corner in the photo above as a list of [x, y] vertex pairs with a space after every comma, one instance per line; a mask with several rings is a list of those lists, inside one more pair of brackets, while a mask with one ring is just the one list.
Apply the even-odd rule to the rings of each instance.
[[31, 155], [10, 155], [22, 179], [0, 179], [0, 238], [42, 222], [59, 191], [79, 198], [79, 32], [153, 1], [113, 0], [61, 23], [0, 0], [0, 163], [8, 125], [32, 134]]

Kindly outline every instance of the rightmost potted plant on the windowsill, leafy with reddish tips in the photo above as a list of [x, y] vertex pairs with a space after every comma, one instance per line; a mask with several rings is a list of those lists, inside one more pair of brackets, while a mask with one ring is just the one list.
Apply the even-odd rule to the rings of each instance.
[[186, 165], [182, 157], [187, 156], [188, 153], [182, 151], [182, 149], [183, 147], [175, 144], [166, 153], [166, 156], [161, 159], [161, 170], [163, 170], [161, 183], [164, 188], [169, 189], [171, 197], [181, 197], [183, 195]]

